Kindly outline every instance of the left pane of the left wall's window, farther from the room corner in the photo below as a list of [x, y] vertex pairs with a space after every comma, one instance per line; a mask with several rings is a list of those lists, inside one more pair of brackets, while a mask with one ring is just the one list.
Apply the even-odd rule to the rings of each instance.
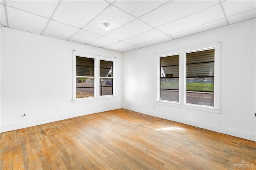
[[94, 59], [76, 56], [76, 98], [94, 97]]

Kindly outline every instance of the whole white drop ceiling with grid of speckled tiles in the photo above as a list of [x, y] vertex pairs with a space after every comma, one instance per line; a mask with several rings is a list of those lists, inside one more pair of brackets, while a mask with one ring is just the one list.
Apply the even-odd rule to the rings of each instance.
[[126, 52], [255, 18], [255, 2], [1, 0], [1, 26]]

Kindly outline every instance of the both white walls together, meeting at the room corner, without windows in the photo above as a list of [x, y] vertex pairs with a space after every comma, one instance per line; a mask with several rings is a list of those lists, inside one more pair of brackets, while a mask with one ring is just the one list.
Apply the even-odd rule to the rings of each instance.
[[[253, 19], [122, 55], [1, 27], [0, 132], [118, 109], [123, 105], [133, 111], [256, 141], [255, 30]], [[158, 91], [155, 53], [218, 41], [220, 114], [158, 105], [155, 102]], [[117, 57], [116, 99], [71, 102], [73, 49]], [[22, 117], [24, 113], [26, 117]]]

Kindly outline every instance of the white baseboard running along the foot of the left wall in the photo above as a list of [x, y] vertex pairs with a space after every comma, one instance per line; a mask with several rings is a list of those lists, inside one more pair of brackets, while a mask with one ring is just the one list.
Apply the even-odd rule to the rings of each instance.
[[115, 106], [115, 107], [103, 108], [103, 109], [83, 111], [83, 112], [79, 112], [79, 113], [72, 113], [72, 114], [69, 114], [69, 115], [63, 115], [63, 116], [59, 116], [59, 117], [51, 117], [51, 118], [48, 118], [48, 119], [42, 119], [42, 120], [20, 123], [20, 124], [15, 124], [15, 125], [8, 125], [8, 126], [5, 126], [5, 127], [0, 127], [0, 132], [1, 133], [2, 132], [8, 132], [8, 131], [12, 131], [12, 130], [21, 129], [21, 128], [27, 128], [27, 127], [32, 127], [32, 126], [36, 126], [36, 125], [42, 125], [42, 124], [46, 124], [46, 123], [61, 121], [61, 120], [64, 120], [64, 119], [70, 119], [70, 118], [73, 118], [73, 117], [78, 117], [78, 116], [83, 116], [83, 115], [90, 115], [90, 114], [93, 114], [93, 113], [111, 111], [111, 110], [115, 110], [115, 109], [122, 109], [122, 105]]

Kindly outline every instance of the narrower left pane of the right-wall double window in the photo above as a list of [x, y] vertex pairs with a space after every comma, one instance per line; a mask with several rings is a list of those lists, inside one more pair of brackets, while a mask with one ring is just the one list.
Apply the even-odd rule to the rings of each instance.
[[160, 58], [160, 99], [179, 101], [179, 55]]

